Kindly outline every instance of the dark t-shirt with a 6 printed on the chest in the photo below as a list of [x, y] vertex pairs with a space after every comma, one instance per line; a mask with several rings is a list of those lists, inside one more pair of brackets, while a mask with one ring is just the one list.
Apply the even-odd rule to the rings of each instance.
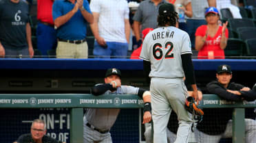
[[0, 0], [0, 42], [6, 49], [28, 48], [26, 24], [28, 23], [28, 3]]

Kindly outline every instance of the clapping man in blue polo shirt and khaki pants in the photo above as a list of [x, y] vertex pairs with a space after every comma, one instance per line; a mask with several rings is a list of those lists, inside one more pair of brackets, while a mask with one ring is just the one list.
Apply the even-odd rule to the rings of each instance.
[[58, 38], [56, 57], [87, 59], [87, 23], [92, 24], [94, 21], [88, 1], [54, 1], [52, 16]]

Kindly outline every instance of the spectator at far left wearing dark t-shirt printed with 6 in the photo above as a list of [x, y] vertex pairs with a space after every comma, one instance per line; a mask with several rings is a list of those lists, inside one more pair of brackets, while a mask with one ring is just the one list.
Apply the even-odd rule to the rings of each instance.
[[0, 57], [33, 57], [28, 3], [0, 1]]

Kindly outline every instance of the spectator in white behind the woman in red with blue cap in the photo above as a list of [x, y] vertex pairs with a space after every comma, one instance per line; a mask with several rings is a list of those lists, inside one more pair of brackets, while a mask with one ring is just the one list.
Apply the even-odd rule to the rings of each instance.
[[217, 10], [221, 10], [222, 8], [228, 8], [231, 13], [233, 18], [242, 18], [240, 14], [240, 10], [237, 7], [237, 0], [214, 0], [215, 4], [213, 7], [217, 8]]

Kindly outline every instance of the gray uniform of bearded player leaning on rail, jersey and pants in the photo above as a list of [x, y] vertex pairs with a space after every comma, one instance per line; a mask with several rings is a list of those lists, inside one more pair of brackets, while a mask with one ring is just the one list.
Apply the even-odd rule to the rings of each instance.
[[[120, 86], [116, 91], [107, 90], [105, 94], [138, 94], [139, 88], [133, 86]], [[111, 143], [109, 130], [114, 125], [120, 109], [89, 108], [84, 116], [84, 143]], [[88, 124], [89, 123], [89, 124]]]

